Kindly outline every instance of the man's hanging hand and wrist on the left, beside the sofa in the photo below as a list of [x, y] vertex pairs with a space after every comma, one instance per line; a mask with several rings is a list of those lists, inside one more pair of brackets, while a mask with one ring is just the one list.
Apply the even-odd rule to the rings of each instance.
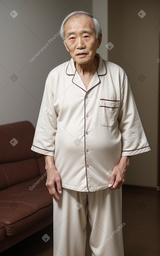
[[56, 203], [59, 204], [60, 198], [56, 191], [56, 188], [60, 194], [62, 194], [62, 187], [61, 187], [61, 175], [56, 170], [54, 165], [54, 158], [52, 156], [45, 156], [46, 161], [46, 171], [47, 171], [47, 180], [46, 186], [49, 190], [49, 194], [53, 196]]

